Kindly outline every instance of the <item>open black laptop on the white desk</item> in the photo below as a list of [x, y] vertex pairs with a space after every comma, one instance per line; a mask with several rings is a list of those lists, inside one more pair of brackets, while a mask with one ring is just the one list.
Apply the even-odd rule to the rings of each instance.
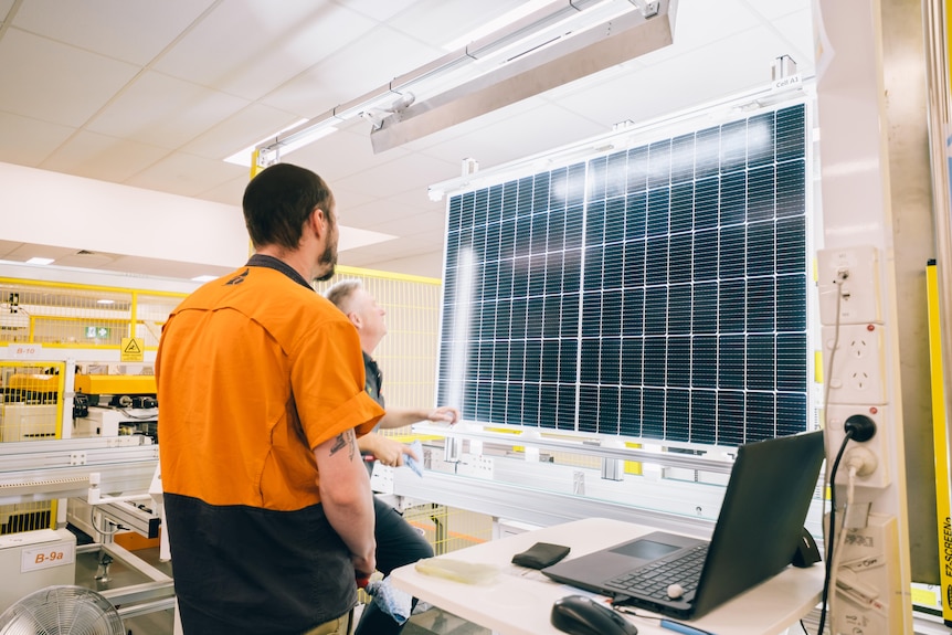
[[710, 541], [655, 531], [542, 573], [622, 604], [699, 617], [791, 563], [824, 457], [822, 431], [741, 445]]

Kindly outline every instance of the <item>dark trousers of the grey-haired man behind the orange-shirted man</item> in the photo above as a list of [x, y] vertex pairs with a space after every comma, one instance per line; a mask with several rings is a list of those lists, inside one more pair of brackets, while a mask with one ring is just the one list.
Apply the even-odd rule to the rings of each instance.
[[[377, 517], [377, 570], [384, 575], [404, 564], [433, 557], [433, 548], [426, 539], [406, 522], [399, 511], [373, 497], [373, 514]], [[416, 605], [416, 599], [413, 599]], [[353, 635], [390, 635], [400, 633], [403, 626], [390, 615], [370, 603], [363, 608]]]

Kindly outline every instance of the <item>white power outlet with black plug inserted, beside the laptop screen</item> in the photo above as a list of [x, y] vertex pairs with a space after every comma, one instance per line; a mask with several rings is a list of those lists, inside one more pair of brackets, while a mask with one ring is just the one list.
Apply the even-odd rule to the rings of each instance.
[[853, 441], [846, 445], [846, 451], [843, 453], [844, 459], [840, 459], [837, 468], [836, 483], [846, 485], [848, 483], [848, 472], [844, 467], [845, 457], [853, 448], [865, 448], [872, 453], [876, 457], [876, 467], [870, 473], [860, 476], [857, 474], [855, 483], [863, 487], [887, 487], [890, 483], [889, 475], [889, 456], [887, 454], [887, 427], [889, 421], [889, 409], [884, 405], [844, 405], [831, 404], [826, 410], [826, 469], [833, 467], [833, 459], [836, 453], [839, 452], [839, 446], [846, 437], [844, 424], [846, 420], [854, 414], [863, 414], [872, 420], [876, 424], [876, 434], [869, 441]]

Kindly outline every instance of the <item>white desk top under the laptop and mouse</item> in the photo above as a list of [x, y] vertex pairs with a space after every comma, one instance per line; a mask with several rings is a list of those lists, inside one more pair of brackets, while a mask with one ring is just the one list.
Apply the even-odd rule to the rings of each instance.
[[[567, 559], [571, 559], [652, 530], [618, 520], [589, 518], [527, 531], [444, 555], [499, 567], [499, 574], [486, 584], [466, 584], [424, 575], [413, 564], [401, 567], [391, 575], [396, 588], [503, 635], [559, 635], [561, 631], [549, 622], [552, 603], [564, 595], [586, 592], [553, 582], [538, 571], [516, 567], [510, 563], [512, 555], [536, 542], [550, 542], [570, 547], [572, 551]], [[822, 589], [822, 563], [808, 569], [789, 567], [771, 580], [687, 624], [716, 635], [783, 633], [816, 606]], [[657, 620], [628, 618], [638, 626], [641, 635], [671, 635], [671, 631], [662, 628]]]

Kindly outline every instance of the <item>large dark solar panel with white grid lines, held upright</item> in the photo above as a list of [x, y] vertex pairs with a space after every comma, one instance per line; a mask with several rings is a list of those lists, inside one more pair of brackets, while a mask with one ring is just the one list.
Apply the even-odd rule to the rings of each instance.
[[805, 430], [805, 131], [787, 106], [453, 195], [440, 402], [699, 444]]

